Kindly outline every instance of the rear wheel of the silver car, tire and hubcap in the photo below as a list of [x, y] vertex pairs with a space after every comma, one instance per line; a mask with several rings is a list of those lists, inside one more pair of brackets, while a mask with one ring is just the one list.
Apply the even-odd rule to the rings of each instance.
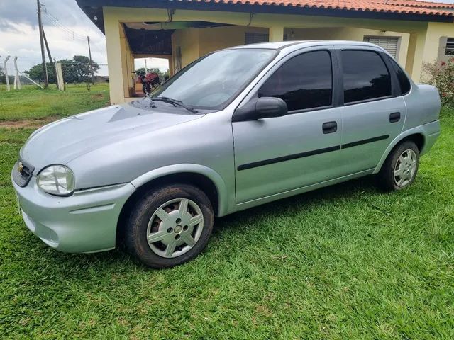
[[398, 191], [413, 183], [419, 168], [419, 149], [414, 142], [406, 140], [392, 152], [377, 175], [377, 184], [385, 191]]

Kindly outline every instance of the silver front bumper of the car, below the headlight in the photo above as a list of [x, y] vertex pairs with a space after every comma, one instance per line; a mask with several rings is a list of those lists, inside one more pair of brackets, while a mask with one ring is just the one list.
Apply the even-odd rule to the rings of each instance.
[[114, 249], [121, 208], [135, 191], [124, 183], [52, 196], [38, 188], [35, 176], [23, 188], [14, 181], [13, 186], [28, 229], [45, 244], [69, 253]]

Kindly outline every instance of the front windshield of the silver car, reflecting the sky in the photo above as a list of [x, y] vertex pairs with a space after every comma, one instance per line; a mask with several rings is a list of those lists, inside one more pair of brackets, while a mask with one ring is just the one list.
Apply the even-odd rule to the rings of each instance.
[[166, 97], [202, 109], [219, 109], [272, 60], [269, 49], [222, 50], [201, 57], [156, 89], [152, 98]]

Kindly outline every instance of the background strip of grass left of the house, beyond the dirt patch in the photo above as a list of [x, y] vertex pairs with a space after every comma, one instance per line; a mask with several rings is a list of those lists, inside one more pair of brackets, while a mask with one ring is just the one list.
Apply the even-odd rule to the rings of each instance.
[[109, 103], [109, 84], [66, 86], [67, 91], [57, 91], [51, 84], [49, 90], [38, 86], [24, 86], [20, 91], [6, 91], [0, 86], [0, 122], [2, 120], [28, 120], [55, 116], [55, 119], [84, 111], [101, 108]]

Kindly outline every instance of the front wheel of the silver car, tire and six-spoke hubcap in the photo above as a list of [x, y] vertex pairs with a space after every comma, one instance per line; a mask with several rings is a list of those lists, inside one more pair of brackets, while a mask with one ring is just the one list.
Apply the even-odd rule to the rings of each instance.
[[200, 254], [213, 225], [213, 208], [203, 191], [188, 184], [161, 186], [135, 203], [124, 242], [145, 266], [170, 268]]

